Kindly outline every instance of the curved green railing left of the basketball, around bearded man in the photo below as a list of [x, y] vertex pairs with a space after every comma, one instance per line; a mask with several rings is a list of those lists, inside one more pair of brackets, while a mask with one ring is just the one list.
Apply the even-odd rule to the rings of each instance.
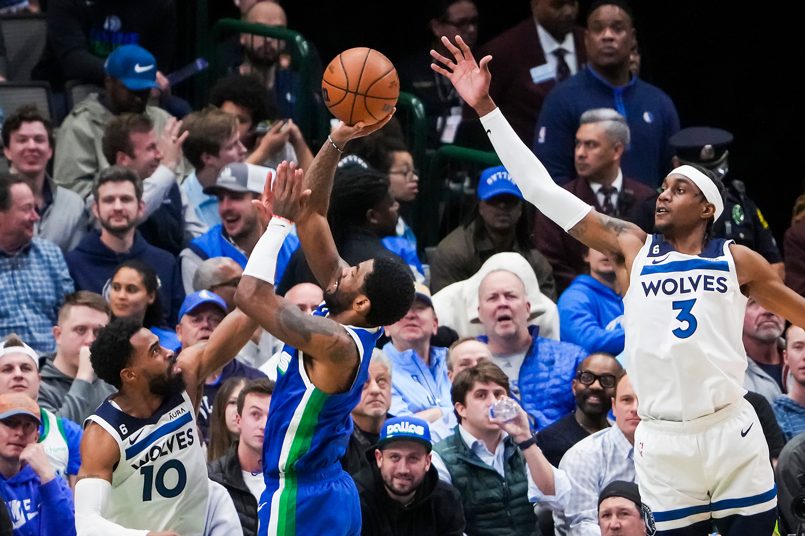
[[[205, 56], [213, 67], [213, 76], [221, 76], [222, 74], [223, 69], [218, 58], [217, 46], [229, 35], [251, 34], [285, 41], [286, 50], [291, 53], [291, 62], [297, 66], [297, 72], [299, 72], [299, 94], [296, 96], [297, 109], [299, 110], [299, 130], [302, 130], [302, 134], [308, 143], [316, 141], [320, 125], [316, 113], [316, 99], [313, 97], [312, 92], [309, 91], [312, 87], [313, 60], [308, 41], [299, 32], [288, 30], [286, 27], [244, 23], [236, 19], [219, 20], [215, 23], [210, 33], [212, 39], [208, 39]], [[209, 77], [200, 81], [200, 84], [204, 83], [206, 83], [206, 87], [202, 96], [206, 99], [210, 87]]]

